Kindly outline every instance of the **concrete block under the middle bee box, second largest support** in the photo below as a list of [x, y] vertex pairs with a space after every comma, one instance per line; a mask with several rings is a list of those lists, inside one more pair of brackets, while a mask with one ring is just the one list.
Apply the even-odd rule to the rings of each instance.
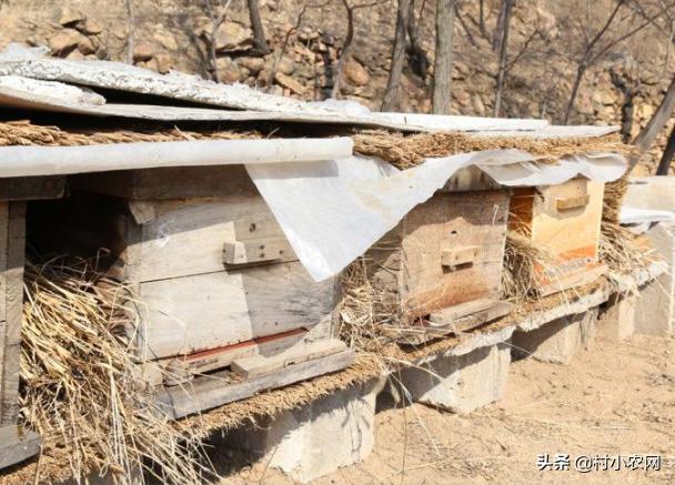
[[502, 397], [510, 364], [510, 343], [501, 342], [409, 367], [401, 372], [400, 385], [414, 402], [470, 413]]

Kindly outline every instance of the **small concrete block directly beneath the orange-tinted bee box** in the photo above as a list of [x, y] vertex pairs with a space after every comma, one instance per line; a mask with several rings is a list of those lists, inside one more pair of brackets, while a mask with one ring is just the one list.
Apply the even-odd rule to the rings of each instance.
[[590, 348], [596, 333], [597, 307], [564, 316], [530, 332], [513, 334], [515, 358], [532, 356], [537, 361], [568, 364], [574, 354]]

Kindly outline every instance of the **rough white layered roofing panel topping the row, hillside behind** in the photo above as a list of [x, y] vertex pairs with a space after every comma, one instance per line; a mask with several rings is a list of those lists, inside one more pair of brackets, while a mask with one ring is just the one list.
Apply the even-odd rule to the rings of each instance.
[[[492, 119], [475, 117], [440, 117], [431, 114], [376, 113], [350, 101], [305, 102], [268, 94], [243, 84], [222, 84], [179, 72], [159, 74], [154, 71], [119, 62], [72, 61], [44, 55], [40, 48], [10, 46], [0, 53], [0, 75], [32, 79], [42, 83], [56, 82], [54, 92], [48, 89], [21, 90], [20, 83], [3, 85], [2, 105], [31, 107], [46, 111], [72, 112], [102, 117], [124, 117], [152, 120], [272, 120], [319, 122], [380, 127], [402, 131], [527, 131], [544, 128], [545, 120]], [[141, 95], [193, 102], [204, 108], [182, 108], [148, 104], [91, 103], [91, 100], [62, 87], [115, 90]], [[92, 97], [100, 94], [91, 93]], [[206, 107], [220, 108], [220, 110]], [[238, 111], [229, 111], [238, 110]], [[244, 114], [245, 113], [245, 114]]]

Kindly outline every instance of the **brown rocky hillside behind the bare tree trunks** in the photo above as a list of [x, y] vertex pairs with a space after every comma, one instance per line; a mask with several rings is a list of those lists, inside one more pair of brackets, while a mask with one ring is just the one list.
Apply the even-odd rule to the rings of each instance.
[[[483, 26], [478, 3], [460, 2], [452, 111], [492, 115], [498, 65], [492, 36], [498, 3], [484, 1]], [[601, 29], [612, 4], [611, 0], [517, 2], [502, 115], [563, 120], [584, 31], [593, 34]], [[159, 72], [178, 69], [204, 78], [216, 75], [220, 82], [242, 82], [301, 99], [330, 97], [346, 34], [343, 2], [260, 0], [260, 8], [272, 50], [264, 55], [253, 48], [244, 0], [3, 0], [0, 47], [9, 42], [48, 46], [53, 55], [68, 59], [121, 60]], [[417, 0], [415, 18], [420, 46], [433, 60], [434, 2]], [[631, 19], [635, 22], [635, 18]], [[354, 10], [354, 42], [342, 69], [338, 97], [380, 108], [394, 21], [393, 0]], [[627, 22], [617, 23], [607, 33], [607, 41], [635, 24]], [[649, 24], [617, 43], [588, 70], [571, 122], [623, 124], [625, 138], [634, 137], [669, 82], [674, 67], [671, 42], [656, 24]], [[402, 80], [401, 111], [430, 110], [432, 75], [433, 65], [411, 55]], [[633, 95], [626, 95], [627, 88]], [[664, 131], [659, 145], [666, 134]], [[637, 170], [653, 170], [659, 154], [657, 146]]]

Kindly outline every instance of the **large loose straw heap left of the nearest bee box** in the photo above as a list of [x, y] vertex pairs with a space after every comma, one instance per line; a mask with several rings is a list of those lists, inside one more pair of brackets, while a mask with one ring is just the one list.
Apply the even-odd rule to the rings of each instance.
[[123, 479], [143, 468], [163, 483], [200, 481], [199, 442], [158, 412], [120, 337], [127, 297], [84, 262], [27, 266], [20, 404], [43, 439], [36, 483], [99, 471]]

